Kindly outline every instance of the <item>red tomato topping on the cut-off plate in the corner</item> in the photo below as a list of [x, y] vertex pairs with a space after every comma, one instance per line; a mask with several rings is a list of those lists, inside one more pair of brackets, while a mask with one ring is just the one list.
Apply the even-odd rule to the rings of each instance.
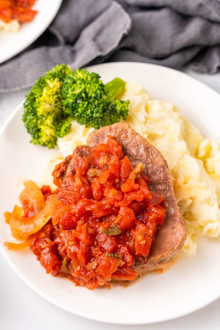
[[37, 14], [31, 9], [36, 0], [0, 0], [0, 19], [9, 23], [17, 19], [20, 23], [30, 22]]

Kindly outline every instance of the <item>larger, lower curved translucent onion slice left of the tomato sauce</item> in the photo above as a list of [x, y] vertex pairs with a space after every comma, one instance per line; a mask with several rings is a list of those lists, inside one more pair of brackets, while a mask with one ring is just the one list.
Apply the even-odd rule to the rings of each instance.
[[[39, 231], [51, 218], [57, 202], [57, 195], [49, 195], [45, 207], [37, 215], [26, 218], [22, 217], [22, 208], [16, 205], [10, 219], [12, 235], [23, 239]], [[21, 209], [20, 213], [19, 209]]]

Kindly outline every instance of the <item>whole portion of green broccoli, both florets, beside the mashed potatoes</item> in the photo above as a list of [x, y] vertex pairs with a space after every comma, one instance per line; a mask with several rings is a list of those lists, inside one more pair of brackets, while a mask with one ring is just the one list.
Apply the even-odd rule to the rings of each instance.
[[71, 120], [99, 128], [126, 120], [129, 101], [116, 98], [125, 82], [115, 78], [106, 85], [97, 73], [64, 64], [40, 77], [26, 95], [22, 120], [31, 134], [31, 142], [54, 148], [57, 138], [66, 135]]

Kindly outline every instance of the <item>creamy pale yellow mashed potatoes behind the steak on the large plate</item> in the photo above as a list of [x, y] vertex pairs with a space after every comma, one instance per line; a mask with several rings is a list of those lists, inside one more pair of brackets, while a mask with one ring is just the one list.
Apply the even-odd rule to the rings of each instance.
[[[220, 141], [203, 139], [172, 104], [152, 100], [137, 82], [126, 85], [122, 99], [130, 100], [127, 122], [167, 160], [186, 221], [188, 237], [182, 249], [195, 254], [199, 234], [220, 233]], [[63, 155], [85, 144], [92, 130], [73, 121], [71, 132], [58, 139]]]

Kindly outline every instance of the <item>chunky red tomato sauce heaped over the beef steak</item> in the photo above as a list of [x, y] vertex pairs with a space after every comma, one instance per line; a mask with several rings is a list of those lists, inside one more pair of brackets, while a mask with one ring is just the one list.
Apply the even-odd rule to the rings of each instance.
[[[149, 254], [165, 198], [148, 189], [143, 165], [132, 166], [112, 137], [78, 147], [53, 171], [58, 203], [49, 222], [30, 237], [47, 273], [95, 289], [110, 280], [134, 280]], [[51, 194], [42, 187], [44, 196]]]

